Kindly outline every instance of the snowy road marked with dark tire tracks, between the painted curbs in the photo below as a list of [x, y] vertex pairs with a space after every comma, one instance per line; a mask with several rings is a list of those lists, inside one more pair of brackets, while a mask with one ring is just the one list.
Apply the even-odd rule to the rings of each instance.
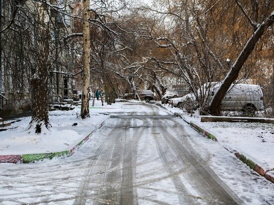
[[151, 104], [125, 104], [72, 157], [0, 164], [0, 205], [274, 204], [274, 186]]

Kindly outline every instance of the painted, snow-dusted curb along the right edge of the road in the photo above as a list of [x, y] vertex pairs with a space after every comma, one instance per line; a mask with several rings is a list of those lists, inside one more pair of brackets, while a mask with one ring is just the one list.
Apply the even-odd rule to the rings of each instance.
[[[207, 130], [205, 130], [204, 128], [198, 126], [197, 124], [195, 124], [192, 121], [187, 121], [186, 119], [184, 119], [177, 112], [175, 112], [174, 115], [182, 118], [186, 123], [188, 123], [190, 126], [194, 127], [197, 131], [201, 132], [202, 134], [204, 134], [208, 138], [212, 139], [215, 142], [218, 142], [217, 138], [213, 134], [211, 134], [210, 132], [208, 132]], [[241, 160], [243, 163], [245, 163], [247, 166], [249, 166], [252, 170], [254, 170], [255, 172], [257, 172], [261, 176], [265, 177], [267, 180], [271, 181], [272, 183], [274, 183], [274, 173], [271, 174], [271, 172], [270, 172], [270, 171], [274, 171], [274, 169], [266, 169], [265, 170], [262, 166], [258, 165], [257, 163], [255, 163], [251, 159], [247, 158], [245, 155], [243, 155], [243, 154], [241, 154], [241, 153], [239, 153], [237, 151], [230, 151], [226, 147], [224, 147], [224, 148], [226, 150], [228, 150], [229, 152], [233, 153], [239, 160]]]

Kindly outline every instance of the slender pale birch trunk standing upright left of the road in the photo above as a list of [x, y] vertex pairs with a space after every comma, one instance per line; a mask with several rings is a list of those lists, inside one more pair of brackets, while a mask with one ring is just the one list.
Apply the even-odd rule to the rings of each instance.
[[90, 117], [89, 112], [89, 92], [90, 92], [90, 12], [89, 0], [83, 0], [83, 95], [82, 95], [82, 106], [81, 106], [81, 117], [82, 119]]

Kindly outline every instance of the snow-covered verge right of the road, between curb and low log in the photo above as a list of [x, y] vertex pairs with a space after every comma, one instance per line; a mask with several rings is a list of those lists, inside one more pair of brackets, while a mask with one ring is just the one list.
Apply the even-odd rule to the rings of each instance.
[[192, 116], [181, 109], [164, 106], [171, 112], [180, 113], [187, 121], [216, 136], [218, 142], [230, 151], [244, 154], [265, 170], [274, 169], [274, 125], [267, 123], [247, 122], [201, 122], [201, 116]]

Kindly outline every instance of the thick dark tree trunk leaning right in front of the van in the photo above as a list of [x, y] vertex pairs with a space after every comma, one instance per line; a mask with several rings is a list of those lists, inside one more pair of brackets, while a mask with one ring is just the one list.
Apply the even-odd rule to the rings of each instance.
[[229, 73], [227, 74], [227, 76], [226, 76], [225, 80], [223, 81], [222, 85], [220, 86], [219, 90], [213, 96], [212, 101], [210, 102], [210, 105], [209, 105], [209, 109], [208, 109], [208, 111], [211, 115], [219, 114], [222, 100], [223, 100], [224, 96], [226, 95], [229, 87], [231, 86], [233, 81], [238, 78], [239, 72], [240, 72], [243, 64], [246, 62], [246, 60], [248, 59], [248, 57], [254, 50], [255, 45], [258, 42], [258, 40], [261, 38], [261, 36], [264, 34], [264, 32], [267, 30], [267, 28], [270, 27], [273, 23], [274, 23], [274, 11], [254, 31], [253, 35], [247, 41], [245, 47], [243, 48], [242, 52], [240, 53], [238, 59], [232, 65]]

